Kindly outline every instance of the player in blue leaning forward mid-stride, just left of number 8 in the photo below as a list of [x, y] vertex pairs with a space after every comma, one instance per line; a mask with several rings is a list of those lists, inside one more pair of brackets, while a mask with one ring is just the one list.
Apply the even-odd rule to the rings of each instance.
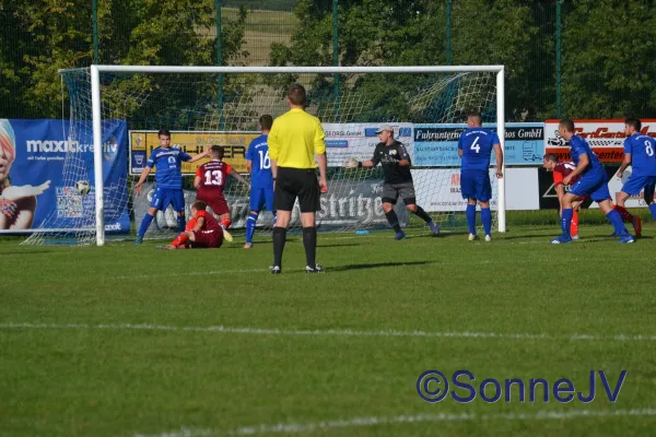
[[572, 162], [576, 165], [574, 172], [565, 176], [563, 184], [570, 185], [576, 177], [581, 176], [581, 178], [563, 197], [561, 215], [563, 233], [560, 237], [552, 239], [551, 243], [558, 245], [572, 241], [572, 235], [570, 234], [570, 223], [574, 214], [572, 203], [586, 194], [589, 194], [590, 199], [599, 204], [599, 209], [612, 224], [614, 234], [620, 237], [620, 243], [633, 243], [634, 239], [624, 227], [622, 216], [612, 208], [606, 170], [588, 143], [583, 138], [574, 134], [574, 121], [567, 118], [562, 119], [558, 125], [558, 132], [569, 142], [570, 155]]

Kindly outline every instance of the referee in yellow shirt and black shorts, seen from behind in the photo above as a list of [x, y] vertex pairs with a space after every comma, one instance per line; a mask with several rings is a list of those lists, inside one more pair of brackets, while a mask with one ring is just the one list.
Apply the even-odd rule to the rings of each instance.
[[[285, 99], [290, 110], [276, 118], [267, 141], [273, 173], [273, 206], [278, 210], [276, 225], [273, 225], [273, 267], [271, 267], [273, 274], [282, 271], [286, 229], [296, 198], [301, 206], [305, 271], [324, 272], [321, 265], [315, 261], [317, 251], [315, 213], [320, 210], [319, 190], [323, 192], [328, 190], [326, 184], [328, 163], [321, 122], [305, 111], [306, 101], [305, 88], [297, 83], [293, 84]], [[319, 164], [318, 182], [317, 163]]]

